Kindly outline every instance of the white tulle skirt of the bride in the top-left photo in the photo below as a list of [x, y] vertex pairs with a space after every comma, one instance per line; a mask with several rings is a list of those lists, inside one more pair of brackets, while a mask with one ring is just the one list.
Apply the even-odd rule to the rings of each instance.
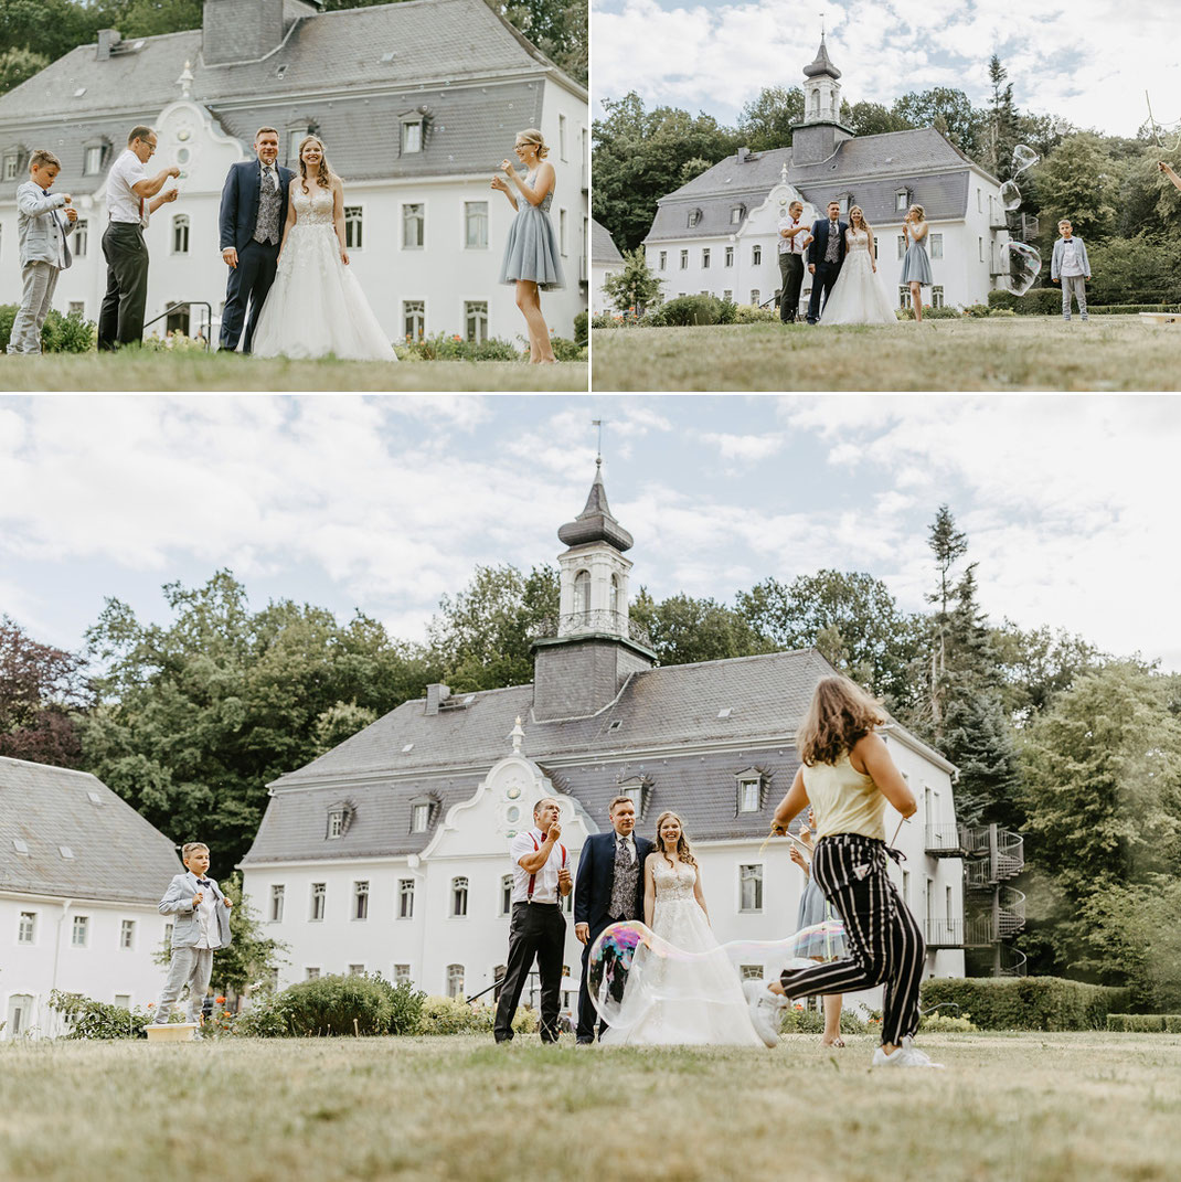
[[255, 357], [396, 362], [331, 225], [296, 222], [254, 330]]

